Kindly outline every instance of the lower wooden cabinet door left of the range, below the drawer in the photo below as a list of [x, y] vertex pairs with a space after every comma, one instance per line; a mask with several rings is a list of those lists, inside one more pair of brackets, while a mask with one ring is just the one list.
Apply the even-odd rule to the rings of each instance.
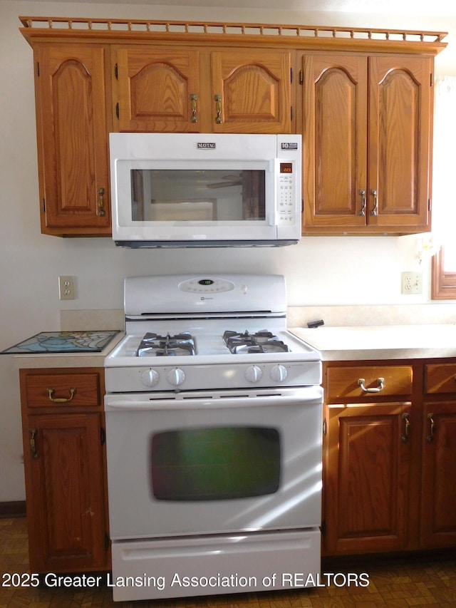
[[98, 413], [28, 418], [24, 447], [32, 571], [105, 567], [100, 433]]

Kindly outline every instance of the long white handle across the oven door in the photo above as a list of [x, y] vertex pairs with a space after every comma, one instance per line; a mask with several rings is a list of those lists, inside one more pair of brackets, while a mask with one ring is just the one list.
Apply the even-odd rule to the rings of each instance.
[[134, 411], [134, 410], [187, 410], [192, 409], [230, 409], [279, 406], [286, 407], [299, 404], [303, 407], [311, 403], [321, 403], [323, 390], [320, 386], [308, 386], [292, 396], [256, 393], [253, 396], [214, 396], [185, 397], [185, 398], [144, 398], [134, 395], [106, 395], [105, 411]]

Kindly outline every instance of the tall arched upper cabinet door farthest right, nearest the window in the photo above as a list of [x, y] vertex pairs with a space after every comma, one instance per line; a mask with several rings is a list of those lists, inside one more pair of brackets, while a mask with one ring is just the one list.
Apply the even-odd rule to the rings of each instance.
[[369, 168], [373, 225], [427, 225], [430, 146], [428, 58], [369, 58]]

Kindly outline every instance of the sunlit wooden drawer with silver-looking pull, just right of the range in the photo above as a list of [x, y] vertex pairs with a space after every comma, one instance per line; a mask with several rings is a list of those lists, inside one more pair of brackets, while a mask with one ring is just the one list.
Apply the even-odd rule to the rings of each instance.
[[327, 400], [410, 395], [412, 377], [411, 366], [330, 367]]

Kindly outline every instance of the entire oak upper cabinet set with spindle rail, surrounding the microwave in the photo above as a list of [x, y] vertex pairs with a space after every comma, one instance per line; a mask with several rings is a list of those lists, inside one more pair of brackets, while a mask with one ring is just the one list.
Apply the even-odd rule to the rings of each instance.
[[110, 235], [112, 131], [302, 133], [304, 234], [430, 230], [445, 32], [19, 19], [36, 61], [41, 232]]

